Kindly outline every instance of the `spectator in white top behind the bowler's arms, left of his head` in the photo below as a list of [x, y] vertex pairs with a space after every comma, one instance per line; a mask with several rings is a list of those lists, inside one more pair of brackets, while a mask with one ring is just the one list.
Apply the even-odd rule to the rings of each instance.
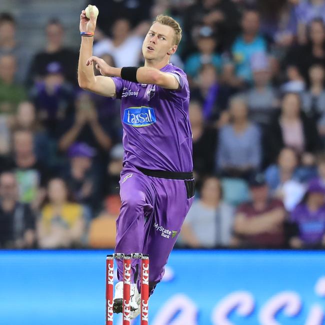
[[112, 26], [112, 38], [104, 38], [93, 45], [93, 55], [112, 55], [117, 67], [138, 65], [143, 35], [148, 25], [138, 25], [131, 30], [129, 20], [118, 18]]

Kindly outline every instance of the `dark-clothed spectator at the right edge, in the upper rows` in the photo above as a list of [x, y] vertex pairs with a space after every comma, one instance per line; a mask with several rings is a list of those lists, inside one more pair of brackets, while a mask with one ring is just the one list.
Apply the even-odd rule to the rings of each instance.
[[296, 67], [303, 79], [309, 81], [308, 70], [310, 66], [325, 64], [325, 24], [323, 20], [320, 18], [312, 20], [307, 32], [307, 43], [292, 45], [284, 58], [283, 64], [286, 67]]

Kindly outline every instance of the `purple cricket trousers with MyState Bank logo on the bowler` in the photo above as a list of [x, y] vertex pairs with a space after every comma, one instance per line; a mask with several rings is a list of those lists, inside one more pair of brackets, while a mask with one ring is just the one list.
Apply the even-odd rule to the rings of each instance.
[[[191, 173], [177, 173], [170, 179], [148, 176], [126, 162], [120, 174], [120, 214], [116, 220], [115, 252], [148, 254], [149, 294], [161, 280], [164, 265], [175, 244], [183, 220], [192, 204], [194, 180]], [[172, 173], [172, 172], [171, 172]], [[163, 175], [166, 176], [166, 174]], [[133, 283], [140, 289], [140, 265], [132, 260]], [[138, 275], [137, 275], [138, 274]], [[123, 279], [123, 263], [117, 259], [117, 278]]]

